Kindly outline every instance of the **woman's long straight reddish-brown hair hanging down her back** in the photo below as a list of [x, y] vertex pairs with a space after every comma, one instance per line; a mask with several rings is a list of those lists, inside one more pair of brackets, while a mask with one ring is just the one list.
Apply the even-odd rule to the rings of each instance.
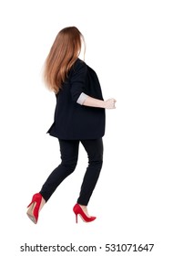
[[67, 73], [81, 51], [85, 39], [76, 27], [65, 27], [59, 31], [46, 58], [44, 80], [49, 90], [56, 93], [66, 81]]

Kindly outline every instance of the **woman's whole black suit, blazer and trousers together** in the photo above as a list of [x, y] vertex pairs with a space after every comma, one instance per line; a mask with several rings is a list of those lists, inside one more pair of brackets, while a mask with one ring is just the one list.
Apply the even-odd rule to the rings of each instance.
[[87, 205], [103, 163], [102, 137], [105, 133], [105, 110], [76, 103], [80, 94], [103, 100], [96, 72], [80, 59], [70, 69], [66, 82], [56, 94], [54, 123], [47, 133], [59, 140], [61, 164], [48, 176], [40, 194], [47, 201], [56, 187], [76, 168], [79, 142], [88, 156], [88, 166], [77, 203]]

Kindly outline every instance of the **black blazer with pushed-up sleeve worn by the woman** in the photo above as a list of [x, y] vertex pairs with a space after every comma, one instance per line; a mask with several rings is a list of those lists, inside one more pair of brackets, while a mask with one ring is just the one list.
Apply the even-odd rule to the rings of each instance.
[[96, 72], [76, 59], [68, 79], [56, 94], [54, 123], [47, 133], [63, 140], [97, 139], [105, 134], [105, 109], [76, 103], [82, 92], [103, 100]]

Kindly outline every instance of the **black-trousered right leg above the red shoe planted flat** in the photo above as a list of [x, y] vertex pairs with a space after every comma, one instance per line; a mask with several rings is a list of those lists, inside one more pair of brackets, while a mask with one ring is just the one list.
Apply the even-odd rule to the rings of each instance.
[[103, 164], [103, 141], [100, 138], [97, 140], [82, 140], [81, 143], [86, 149], [88, 166], [77, 203], [87, 206], [93, 190], [97, 185], [97, 179]]

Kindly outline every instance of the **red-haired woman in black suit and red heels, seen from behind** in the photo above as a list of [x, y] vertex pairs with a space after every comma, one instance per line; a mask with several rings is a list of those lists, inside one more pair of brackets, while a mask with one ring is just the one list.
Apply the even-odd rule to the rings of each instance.
[[61, 164], [48, 176], [28, 206], [27, 215], [37, 222], [38, 214], [56, 187], [76, 168], [79, 143], [88, 156], [88, 166], [73, 211], [86, 222], [93, 221], [87, 204], [97, 184], [103, 162], [102, 137], [105, 109], [115, 108], [115, 99], [103, 100], [96, 72], [78, 59], [84, 37], [76, 27], [66, 27], [56, 36], [46, 58], [44, 78], [56, 93], [55, 120], [47, 133], [58, 138]]

